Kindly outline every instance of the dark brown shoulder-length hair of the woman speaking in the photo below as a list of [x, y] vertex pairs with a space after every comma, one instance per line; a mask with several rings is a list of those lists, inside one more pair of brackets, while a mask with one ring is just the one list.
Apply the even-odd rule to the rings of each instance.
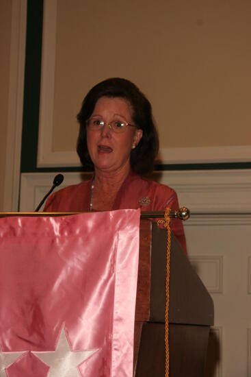
[[83, 99], [81, 110], [77, 114], [80, 125], [77, 154], [85, 171], [94, 169], [86, 143], [86, 121], [91, 117], [96, 102], [101, 97], [121, 97], [131, 104], [133, 122], [138, 129], [143, 131], [140, 143], [131, 151], [131, 169], [140, 175], [149, 173], [153, 169], [159, 150], [159, 138], [153, 122], [152, 107], [135, 84], [121, 78], [111, 78], [96, 84]]

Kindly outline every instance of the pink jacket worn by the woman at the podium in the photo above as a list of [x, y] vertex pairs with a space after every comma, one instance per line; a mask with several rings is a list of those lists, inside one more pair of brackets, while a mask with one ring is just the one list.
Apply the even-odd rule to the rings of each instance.
[[[44, 207], [45, 212], [85, 212], [89, 210], [92, 180], [68, 186], [53, 193]], [[111, 210], [137, 209], [159, 211], [171, 208], [179, 209], [177, 195], [173, 189], [155, 181], [146, 180], [130, 172], [124, 180]], [[171, 230], [187, 253], [182, 221], [172, 219]]]

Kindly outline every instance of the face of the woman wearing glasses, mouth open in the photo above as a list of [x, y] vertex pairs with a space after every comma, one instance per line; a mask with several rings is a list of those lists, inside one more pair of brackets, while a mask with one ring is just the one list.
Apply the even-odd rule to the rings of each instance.
[[128, 126], [118, 134], [111, 130], [109, 123], [123, 121], [133, 124], [133, 110], [129, 101], [120, 97], [101, 97], [90, 118], [104, 121], [101, 130], [89, 130], [87, 127], [87, 146], [94, 168], [107, 173], [117, 173], [130, 168], [131, 149], [142, 138], [142, 130]]

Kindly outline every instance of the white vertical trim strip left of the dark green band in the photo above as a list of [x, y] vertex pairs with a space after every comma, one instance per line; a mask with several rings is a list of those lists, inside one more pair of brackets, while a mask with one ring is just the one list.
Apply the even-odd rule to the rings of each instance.
[[23, 126], [23, 90], [25, 81], [25, 39], [27, 0], [12, 1], [10, 42], [10, 80], [8, 99], [8, 133], [4, 187], [4, 211], [18, 209], [18, 192]]

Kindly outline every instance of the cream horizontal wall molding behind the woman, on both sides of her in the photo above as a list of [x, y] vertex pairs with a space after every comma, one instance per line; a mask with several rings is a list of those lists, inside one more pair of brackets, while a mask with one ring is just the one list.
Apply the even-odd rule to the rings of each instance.
[[[37, 191], [39, 187], [42, 192], [49, 190], [55, 174], [22, 173], [21, 210], [34, 208], [34, 187]], [[64, 176], [64, 184], [77, 184], [90, 173], [71, 172]], [[180, 206], [191, 210], [185, 226], [251, 223], [250, 170], [164, 171], [153, 173], [151, 178], [175, 189]]]

